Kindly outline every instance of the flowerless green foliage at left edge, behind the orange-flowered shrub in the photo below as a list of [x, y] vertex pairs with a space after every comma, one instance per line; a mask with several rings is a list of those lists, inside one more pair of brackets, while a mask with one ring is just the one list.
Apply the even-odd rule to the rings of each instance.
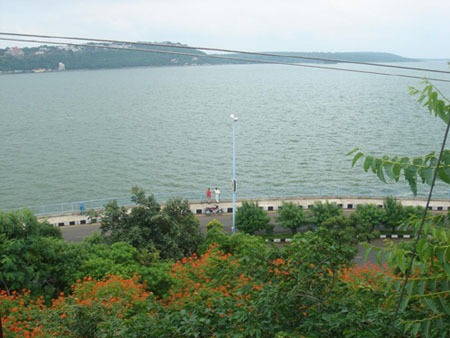
[[98, 234], [68, 243], [59, 228], [39, 222], [29, 210], [0, 212], [0, 220], [0, 289], [8, 294], [27, 289], [49, 300], [70, 292], [77, 279], [110, 274], [131, 278], [137, 273], [158, 295], [172, 283], [170, 262], [161, 261], [158, 252], [124, 242], [108, 245]]

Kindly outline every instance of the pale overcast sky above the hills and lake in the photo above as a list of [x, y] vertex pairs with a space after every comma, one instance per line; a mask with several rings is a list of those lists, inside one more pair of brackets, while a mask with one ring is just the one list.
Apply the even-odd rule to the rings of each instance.
[[0, 0], [0, 32], [450, 58], [449, 13], [450, 0]]

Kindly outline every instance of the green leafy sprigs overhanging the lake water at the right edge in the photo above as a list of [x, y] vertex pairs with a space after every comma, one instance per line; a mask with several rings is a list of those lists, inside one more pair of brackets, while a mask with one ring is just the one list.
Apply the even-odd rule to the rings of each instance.
[[[428, 108], [430, 114], [440, 117], [445, 123], [448, 123], [450, 116], [450, 101], [432, 84], [424, 81], [426, 86], [419, 91], [414, 87], [409, 88], [411, 95], [420, 94], [417, 102], [423, 104]], [[442, 98], [442, 99], [441, 99]], [[409, 187], [414, 195], [417, 195], [417, 180], [420, 177], [422, 183], [431, 185], [435, 170], [437, 178], [441, 181], [450, 184], [450, 150], [444, 150], [442, 154], [442, 162], [439, 168], [436, 167], [438, 156], [436, 153], [430, 153], [423, 157], [409, 158], [407, 156], [382, 156], [376, 157], [366, 155], [359, 148], [354, 148], [347, 153], [347, 156], [352, 155], [352, 167], [358, 160], [364, 160], [364, 170], [366, 172], [371, 169], [372, 173], [376, 174], [378, 178], [386, 183], [388, 179], [398, 182], [403, 176], [408, 181]]]

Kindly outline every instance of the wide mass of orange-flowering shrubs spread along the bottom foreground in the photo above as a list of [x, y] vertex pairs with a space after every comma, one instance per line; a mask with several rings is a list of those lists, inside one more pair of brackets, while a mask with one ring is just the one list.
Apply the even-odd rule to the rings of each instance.
[[[321, 231], [297, 235], [282, 250], [257, 246], [258, 250], [249, 248], [243, 254], [231, 245], [236, 252], [231, 253], [212, 243], [203, 254], [171, 266], [173, 283], [162, 296], [148, 292], [137, 275], [84, 277], [70, 287], [69, 295], [60, 293], [51, 304], [44, 304], [43, 297], [33, 299], [28, 290], [1, 291], [4, 333], [6, 337], [386, 335], [403, 272], [373, 264], [348, 266], [341, 263], [345, 248], [334, 246], [327, 252], [323, 243]], [[438, 258], [427, 264], [433, 269], [436, 262]], [[430, 314], [427, 297], [436, 292], [427, 278], [416, 267], [402, 323]], [[422, 286], [425, 296], [414, 296]], [[444, 294], [439, 301], [445, 304], [447, 297]], [[403, 331], [403, 326], [395, 327], [394, 336]]]

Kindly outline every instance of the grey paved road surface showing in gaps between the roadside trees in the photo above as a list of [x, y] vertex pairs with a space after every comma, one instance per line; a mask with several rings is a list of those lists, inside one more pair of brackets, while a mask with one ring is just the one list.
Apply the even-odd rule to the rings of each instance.
[[[269, 212], [269, 216], [272, 224], [275, 224], [275, 218], [278, 216], [278, 213], [276, 211]], [[214, 216], [199, 215], [198, 219], [200, 221], [200, 230], [202, 232], [206, 232], [206, 224], [208, 224], [214, 218], [216, 218], [224, 225], [224, 230], [226, 232], [231, 234], [232, 214]], [[95, 231], [100, 232], [100, 224], [71, 225], [61, 227], [61, 230], [65, 240], [69, 242], [81, 242], [83, 238], [90, 236]], [[279, 226], [275, 226], [274, 233], [286, 233], [286, 230]], [[380, 247], [383, 246], [384, 243], [384, 240], [381, 239], [372, 242], [373, 245]], [[368, 262], [377, 264], [374, 250], [372, 250], [372, 252], [370, 253]], [[355, 263], [360, 266], [364, 264], [364, 247], [361, 245], [358, 245], [358, 254], [356, 255]]]

